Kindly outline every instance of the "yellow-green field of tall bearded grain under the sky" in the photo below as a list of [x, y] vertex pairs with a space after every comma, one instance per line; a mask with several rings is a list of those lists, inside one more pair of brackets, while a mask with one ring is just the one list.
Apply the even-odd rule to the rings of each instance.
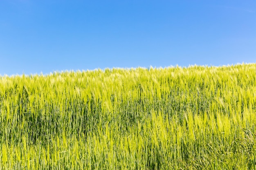
[[256, 169], [256, 64], [0, 77], [0, 170]]

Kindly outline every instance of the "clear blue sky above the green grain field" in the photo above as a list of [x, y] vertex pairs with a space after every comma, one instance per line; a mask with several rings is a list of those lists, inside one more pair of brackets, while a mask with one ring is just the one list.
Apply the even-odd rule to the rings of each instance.
[[0, 0], [0, 75], [256, 62], [255, 0]]

